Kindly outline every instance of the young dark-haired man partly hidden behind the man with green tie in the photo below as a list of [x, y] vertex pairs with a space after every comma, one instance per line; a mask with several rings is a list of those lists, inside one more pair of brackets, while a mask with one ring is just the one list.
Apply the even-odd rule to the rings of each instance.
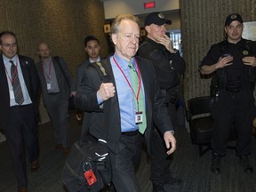
[[[76, 87], [82, 83], [83, 74], [86, 66], [92, 62], [100, 61], [100, 41], [95, 36], [86, 36], [84, 38], [84, 50], [88, 54], [89, 59], [85, 60], [83, 63], [76, 68]], [[82, 120], [82, 111], [77, 109], [76, 119], [78, 121]]]

